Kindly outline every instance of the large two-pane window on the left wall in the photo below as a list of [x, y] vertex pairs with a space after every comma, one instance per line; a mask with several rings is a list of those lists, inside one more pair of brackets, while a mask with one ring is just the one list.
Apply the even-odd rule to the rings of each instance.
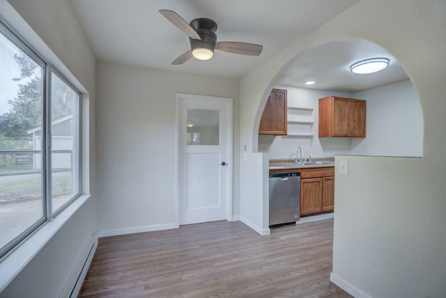
[[0, 23], [0, 256], [79, 196], [79, 104]]

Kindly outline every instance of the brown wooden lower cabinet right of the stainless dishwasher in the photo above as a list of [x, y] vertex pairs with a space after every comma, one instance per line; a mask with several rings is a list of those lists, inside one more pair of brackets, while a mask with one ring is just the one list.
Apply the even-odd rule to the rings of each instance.
[[300, 179], [301, 216], [334, 210], [334, 167], [302, 168]]

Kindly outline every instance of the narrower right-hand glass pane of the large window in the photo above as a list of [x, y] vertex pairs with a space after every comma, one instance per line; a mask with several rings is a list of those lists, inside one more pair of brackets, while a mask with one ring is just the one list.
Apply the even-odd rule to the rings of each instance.
[[51, 77], [52, 211], [79, 193], [79, 95]]

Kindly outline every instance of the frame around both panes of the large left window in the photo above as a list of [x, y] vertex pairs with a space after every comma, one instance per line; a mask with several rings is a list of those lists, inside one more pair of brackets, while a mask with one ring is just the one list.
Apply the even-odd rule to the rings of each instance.
[[[42, 226], [47, 224], [47, 222], [52, 221], [54, 217], [63, 212], [69, 205], [71, 205], [77, 198], [82, 194], [82, 93], [79, 89], [74, 86], [64, 75], [59, 72], [54, 66], [49, 63], [45, 58], [40, 56], [36, 50], [29, 45], [24, 38], [20, 36], [13, 28], [8, 26], [3, 19], [0, 19], [0, 33], [6, 36], [10, 42], [12, 42], [20, 51], [28, 55], [33, 61], [38, 64], [43, 69], [43, 95], [42, 95], [42, 150], [41, 150], [41, 194], [42, 194], [42, 217], [38, 219], [34, 224], [31, 224], [27, 228], [22, 230], [22, 233], [11, 239], [4, 246], [0, 247], [0, 262], [7, 258], [10, 253], [13, 253], [21, 244], [26, 242], [36, 231], [38, 231]], [[51, 75], [54, 73], [59, 79], [61, 79], [67, 86], [69, 86], [72, 91], [74, 91], [78, 96], [78, 102], [76, 105], [77, 118], [75, 119], [75, 132], [76, 141], [75, 150], [77, 152], [77, 181], [78, 187], [77, 192], [72, 195], [72, 197], [63, 203], [56, 212], [52, 212], [52, 148], [51, 148], [51, 85], [52, 78]]]

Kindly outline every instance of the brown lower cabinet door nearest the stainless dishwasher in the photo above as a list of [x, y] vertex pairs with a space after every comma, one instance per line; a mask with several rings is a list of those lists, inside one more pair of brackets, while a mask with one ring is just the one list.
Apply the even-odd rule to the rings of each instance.
[[312, 178], [300, 180], [300, 215], [321, 212], [322, 179]]

